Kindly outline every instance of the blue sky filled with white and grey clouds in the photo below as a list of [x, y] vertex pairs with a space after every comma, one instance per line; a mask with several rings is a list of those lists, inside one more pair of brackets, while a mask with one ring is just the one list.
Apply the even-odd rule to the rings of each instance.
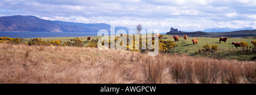
[[0, 0], [0, 16], [10, 15], [159, 32], [256, 28], [256, 0]]

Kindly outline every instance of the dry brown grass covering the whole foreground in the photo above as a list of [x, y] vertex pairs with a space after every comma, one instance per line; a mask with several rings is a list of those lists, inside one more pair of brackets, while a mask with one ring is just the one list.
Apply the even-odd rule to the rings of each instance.
[[0, 44], [0, 83], [255, 83], [255, 61]]

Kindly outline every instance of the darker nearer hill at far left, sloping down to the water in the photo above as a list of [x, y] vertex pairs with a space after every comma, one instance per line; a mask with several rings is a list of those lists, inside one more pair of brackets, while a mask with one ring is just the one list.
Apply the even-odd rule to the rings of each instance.
[[58, 24], [50, 20], [20, 15], [0, 17], [0, 31], [63, 32]]

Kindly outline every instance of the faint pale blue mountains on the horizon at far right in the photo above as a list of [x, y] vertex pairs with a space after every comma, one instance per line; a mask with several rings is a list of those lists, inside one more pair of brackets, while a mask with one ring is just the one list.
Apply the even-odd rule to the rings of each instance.
[[244, 28], [207, 28], [203, 30], [203, 32], [231, 32], [231, 31], [240, 31], [240, 30], [256, 30], [253, 27], [244, 27]]

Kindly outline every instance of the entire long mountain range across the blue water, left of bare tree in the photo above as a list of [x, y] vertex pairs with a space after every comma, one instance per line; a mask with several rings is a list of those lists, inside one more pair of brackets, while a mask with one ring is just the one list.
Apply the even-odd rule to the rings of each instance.
[[[0, 31], [7, 32], [98, 32], [102, 29], [110, 31], [110, 24], [63, 22], [22, 15], [0, 17]], [[120, 29], [129, 30], [126, 27], [115, 27], [115, 31]]]

